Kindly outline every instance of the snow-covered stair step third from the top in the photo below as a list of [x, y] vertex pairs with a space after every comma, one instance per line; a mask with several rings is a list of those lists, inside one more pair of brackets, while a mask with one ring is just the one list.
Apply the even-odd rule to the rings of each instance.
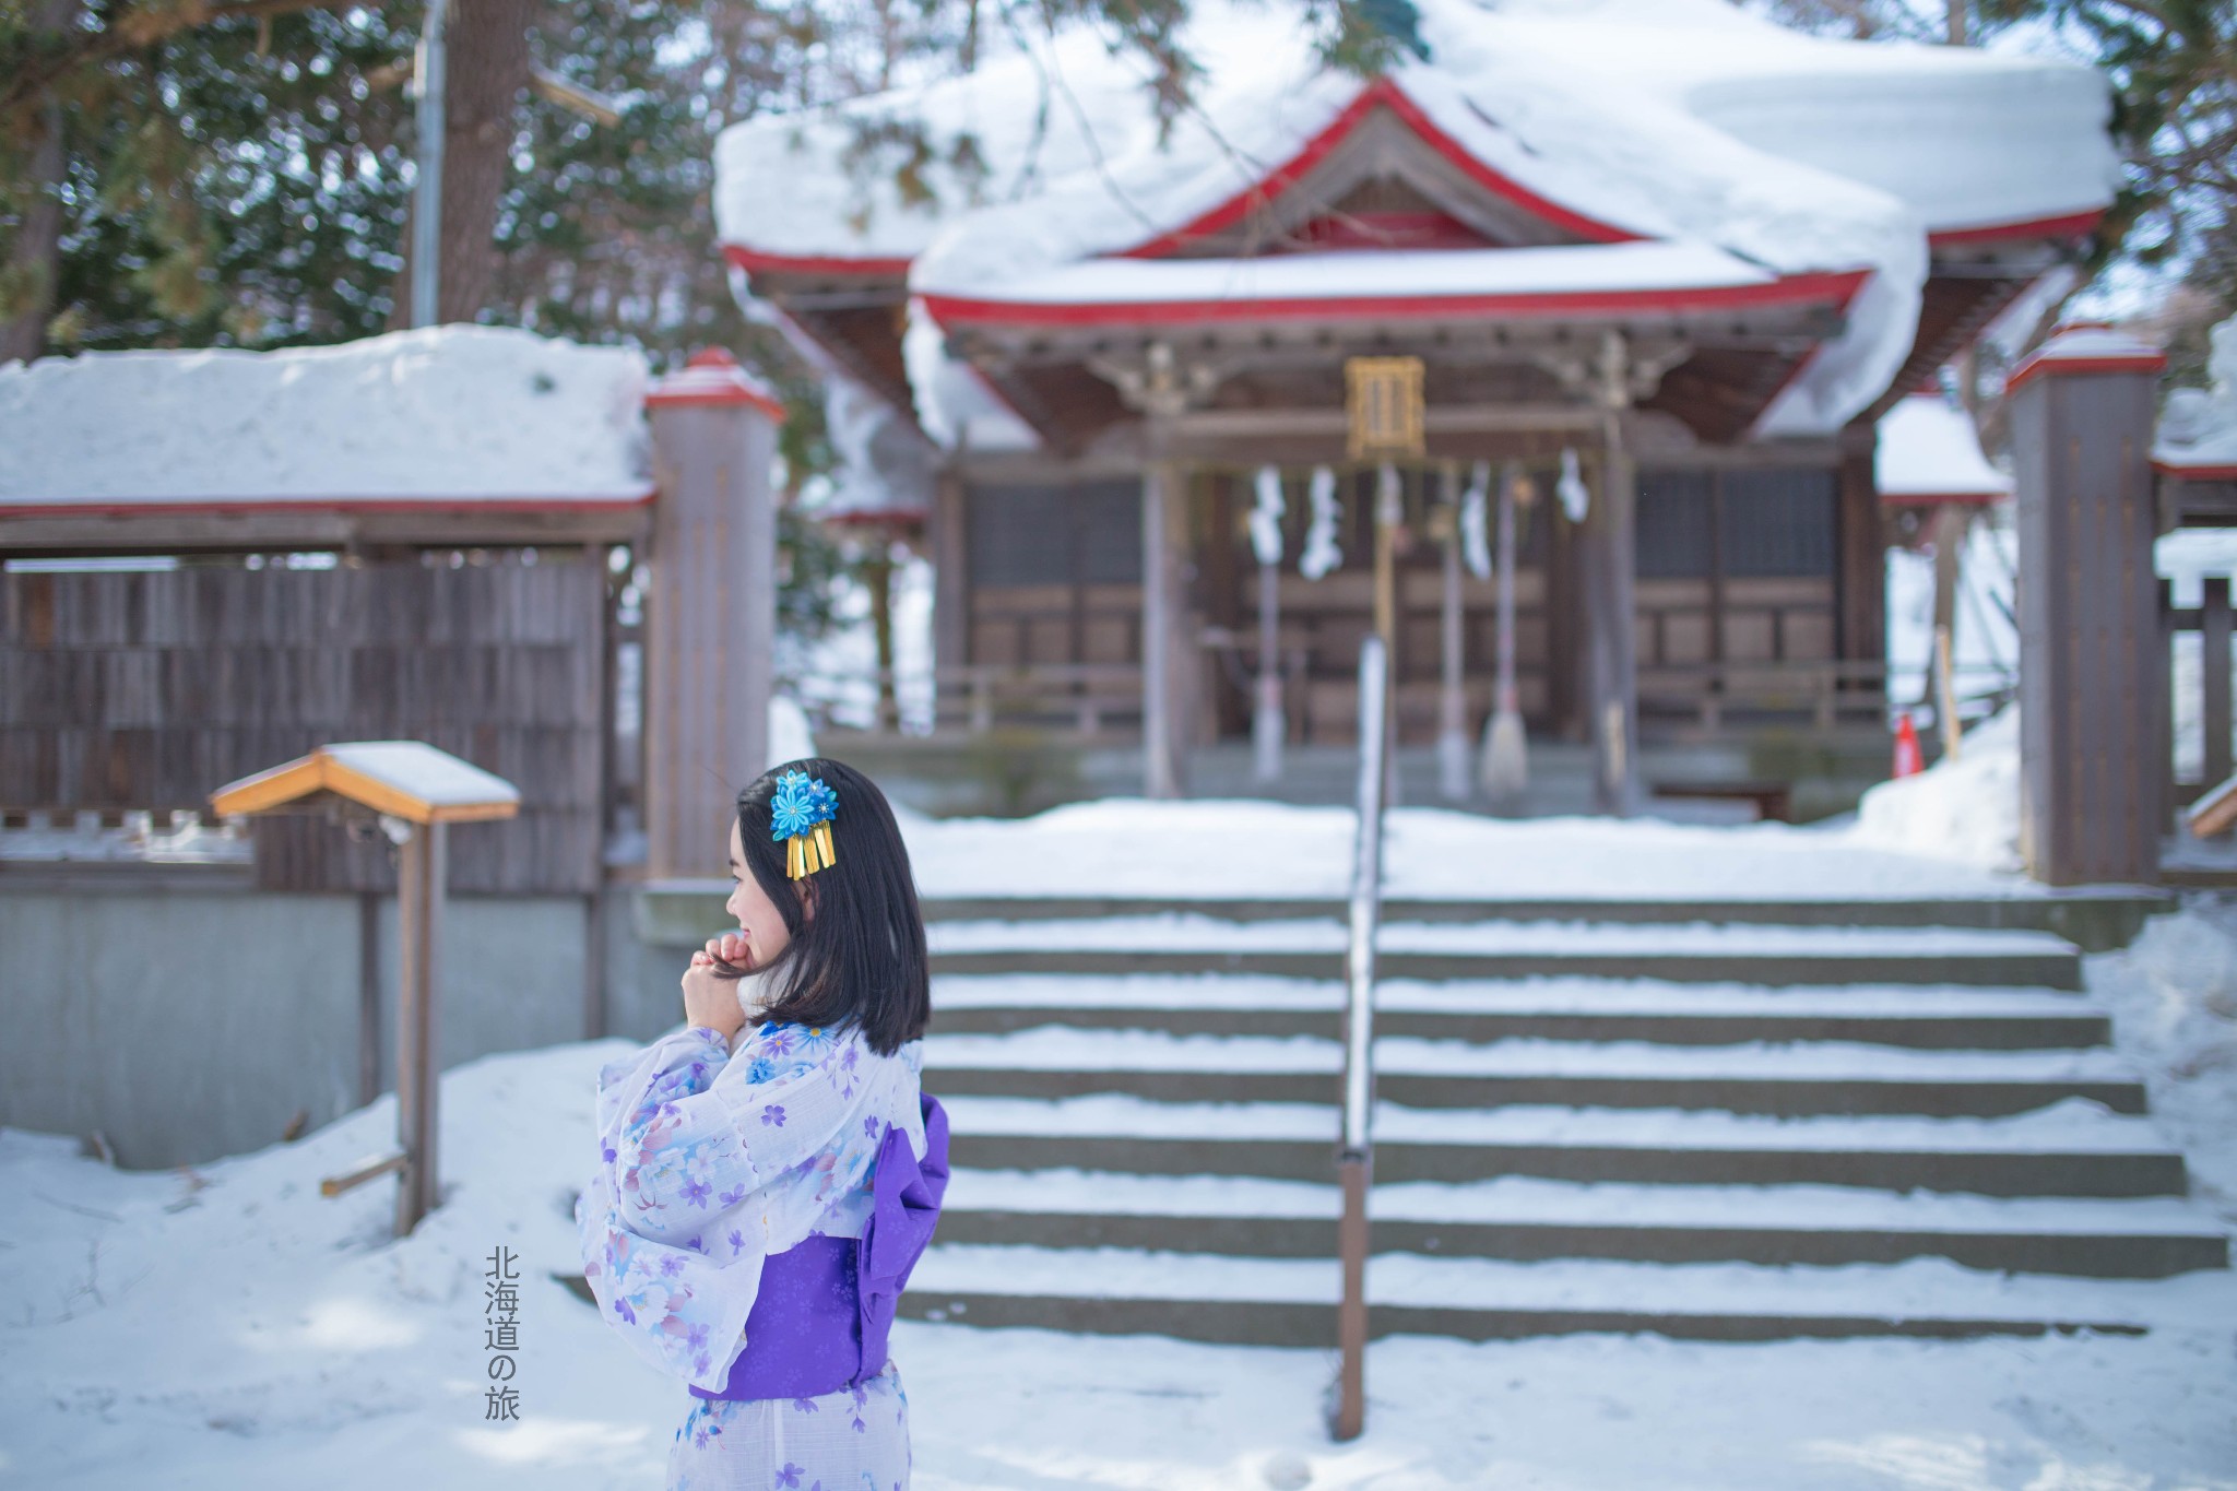
[[[1333, 979], [1266, 975], [942, 975], [935, 1035], [1033, 1026], [1157, 1028], [1177, 1035], [1324, 1035], [1340, 1028]], [[2078, 1048], [2109, 1017], [2071, 993], [1995, 986], [1664, 984], [1658, 979], [1391, 979], [1376, 988], [1382, 1035], [1461, 1039], [1854, 1039], [1917, 1048]]]

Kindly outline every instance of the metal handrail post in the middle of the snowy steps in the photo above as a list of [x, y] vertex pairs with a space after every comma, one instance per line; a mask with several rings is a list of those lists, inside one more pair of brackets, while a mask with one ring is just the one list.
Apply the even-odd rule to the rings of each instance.
[[1389, 653], [1380, 637], [1360, 644], [1360, 787], [1351, 854], [1351, 946], [1344, 955], [1344, 1113], [1335, 1176], [1344, 1212], [1335, 1250], [1344, 1265], [1344, 1299], [1335, 1310], [1342, 1368], [1335, 1386], [1338, 1440], [1367, 1426], [1367, 1185], [1374, 1176], [1374, 990], [1376, 925], [1382, 919], [1382, 787], [1389, 740]]

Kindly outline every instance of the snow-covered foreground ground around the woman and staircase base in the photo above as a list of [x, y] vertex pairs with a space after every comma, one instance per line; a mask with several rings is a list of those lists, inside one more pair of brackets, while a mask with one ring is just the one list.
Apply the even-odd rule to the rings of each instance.
[[[2150, 1122], [2237, 1225], [2237, 903], [2197, 896], [2087, 968]], [[658, 1487], [685, 1395], [548, 1279], [575, 1267], [591, 1077], [624, 1046], [450, 1071], [445, 1205], [403, 1243], [391, 1187], [318, 1194], [387, 1145], [391, 1098], [195, 1171], [0, 1131], [0, 1484]], [[483, 1422], [499, 1243], [526, 1290], [506, 1428]], [[895, 1355], [924, 1491], [2237, 1487], [2226, 1310], [2141, 1339], [1405, 1337], [1371, 1350], [1349, 1446], [1320, 1426], [1327, 1352], [902, 1323]]]

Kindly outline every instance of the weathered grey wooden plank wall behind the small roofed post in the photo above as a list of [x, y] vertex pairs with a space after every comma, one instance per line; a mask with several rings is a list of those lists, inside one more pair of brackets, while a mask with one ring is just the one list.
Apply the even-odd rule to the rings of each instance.
[[[188, 809], [331, 740], [425, 740], [521, 789], [461, 892], [588, 894], [606, 778], [602, 550], [327, 570], [0, 574], [0, 807]], [[268, 890], [394, 890], [385, 841], [259, 820]]]

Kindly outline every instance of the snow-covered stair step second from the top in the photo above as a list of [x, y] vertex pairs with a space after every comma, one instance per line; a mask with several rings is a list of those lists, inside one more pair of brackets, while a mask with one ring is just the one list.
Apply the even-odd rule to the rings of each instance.
[[[1329, 977], [1344, 950], [1333, 919], [1224, 921], [1201, 914], [940, 921], [935, 972], [1264, 972]], [[1382, 923], [1389, 979], [1532, 975], [1740, 984], [2020, 984], [2080, 988], [2074, 943], [1973, 928], [1727, 925], [1620, 921]]]

